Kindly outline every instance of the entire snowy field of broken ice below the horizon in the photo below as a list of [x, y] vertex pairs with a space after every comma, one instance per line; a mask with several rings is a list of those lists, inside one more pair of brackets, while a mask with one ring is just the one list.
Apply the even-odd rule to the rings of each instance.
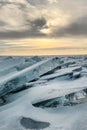
[[0, 63], [0, 130], [87, 130], [87, 56]]

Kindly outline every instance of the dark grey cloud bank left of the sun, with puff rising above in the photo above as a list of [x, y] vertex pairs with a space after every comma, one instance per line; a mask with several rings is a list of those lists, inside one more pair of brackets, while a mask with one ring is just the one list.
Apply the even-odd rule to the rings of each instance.
[[[18, 39], [27, 37], [45, 37], [45, 34], [40, 32], [40, 29], [46, 25], [46, 20], [44, 18], [37, 18], [32, 21], [27, 21], [29, 30], [23, 31], [0, 31], [0, 39]], [[31, 27], [31, 28], [30, 28]]]

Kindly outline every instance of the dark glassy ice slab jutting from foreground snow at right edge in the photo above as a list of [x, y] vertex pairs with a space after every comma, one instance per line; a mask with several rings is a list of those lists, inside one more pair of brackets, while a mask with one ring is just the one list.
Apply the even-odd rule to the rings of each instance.
[[58, 107], [59, 105], [75, 105], [83, 103], [85, 101], [87, 101], [87, 93], [83, 89], [77, 92], [67, 94], [65, 96], [42, 100], [40, 102], [33, 103], [33, 105], [35, 107]]

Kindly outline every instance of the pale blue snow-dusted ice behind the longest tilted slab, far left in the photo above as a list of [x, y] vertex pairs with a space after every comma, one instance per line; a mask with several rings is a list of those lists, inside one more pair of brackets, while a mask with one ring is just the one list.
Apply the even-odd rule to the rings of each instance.
[[[36, 63], [33, 57], [7, 57], [0, 60], [0, 77], [8, 74], [10, 71], [20, 71]], [[38, 58], [38, 57], [36, 57]], [[4, 60], [3, 60], [4, 59]]]

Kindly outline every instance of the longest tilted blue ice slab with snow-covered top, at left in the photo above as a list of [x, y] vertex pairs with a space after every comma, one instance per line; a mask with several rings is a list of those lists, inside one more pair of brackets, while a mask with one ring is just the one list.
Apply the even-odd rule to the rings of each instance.
[[52, 71], [60, 64], [60, 59], [57, 57], [49, 58], [40, 61], [26, 69], [3, 77], [0, 79], [0, 97], [23, 87], [25, 83], [38, 79], [41, 75]]

